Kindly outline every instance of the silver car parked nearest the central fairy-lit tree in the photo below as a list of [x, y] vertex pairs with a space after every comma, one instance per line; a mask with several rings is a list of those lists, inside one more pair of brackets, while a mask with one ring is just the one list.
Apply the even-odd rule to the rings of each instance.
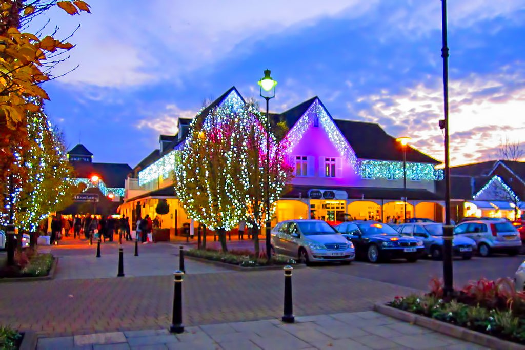
[[274, 253], [299, 259], [309, 265], [314, 261], [350, 263], [355, 250], [352, 242], [322, 220], [288, 220], [271, 230]]

